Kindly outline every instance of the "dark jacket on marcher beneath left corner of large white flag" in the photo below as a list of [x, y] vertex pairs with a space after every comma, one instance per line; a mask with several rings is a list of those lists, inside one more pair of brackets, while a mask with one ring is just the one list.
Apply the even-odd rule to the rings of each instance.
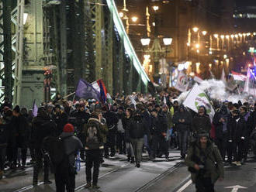
[[[184, 108], [184, 107], [180, 107]], [[185, 109], [184, 109], [185, 110]], [[184, 119], [185, 122], [179, 122], [179, 119]], [[192, 115], [190, 114], [189, 111], [178, 111], [175, 112], [175, 115], [173, 115], [172, 118], [173, 123], [175, 124], [175, 129], [177, 131], [186, 131], [189, 130], [191, 125], [192, 125]]]

